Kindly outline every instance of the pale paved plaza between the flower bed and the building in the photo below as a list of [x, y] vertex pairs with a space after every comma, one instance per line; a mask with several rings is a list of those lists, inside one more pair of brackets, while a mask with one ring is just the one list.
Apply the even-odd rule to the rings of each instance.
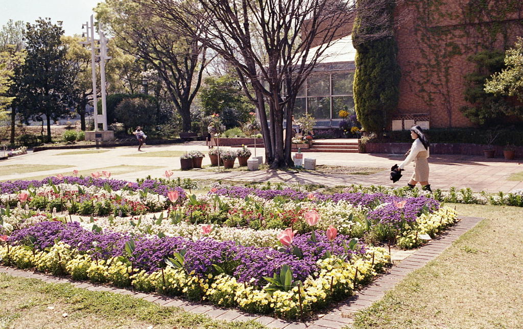
[[[344, 141], [347, 141], [345, 139]], [[137, 147], [118, 147], [109, 148], [107, 152], [101, 154], [79, 154], [60, 156], [72, 150], [47, 150], [27, 155], [17, 156], [0, 162], [0, 167], [7, 165], [24, 164], [66, 164], [73, 166], [70, 169], [47, 170], [28, 173], [14, 173], [0, 176], [0, 180], [16, 180], [40, 175], [54, 175], [76, 169], [98, 171], [100, 168], [107, 168], [120, 165], [131, 166], [157, 166], [158, 168], [144, 171], [136, 171], [127, 174], [112, 175], [115, 179], [134, 181], [137, 178], [162, 177], [165, 170], [179, 170], [180, 161], [176, 158], [168, 157], [144, 157], [147, 152], [156, 151], [189, 151], [201, 150], [204, 153], [208, 150], [204, 142], [189, 142], [185, 144], [144, 146], [145, 152], [138, 152]], [[89, 150], [89, 149], [81, 149]], [[254, 149], [251, 148], [254, 156]], [[140, 154], [140, 157], [128, 155]], [[256, 149], [256, 155], [265, 155], [263, 148]], [[191, 179], [231, 179], [238, 181], [283, 181], [300, 182], [301, 184], [315, 183], [327, 186], [335, 185], [384, 185], [393, 186], [389, 180], [389, 171], [394, 163], [400, 163], [404, 157], [386, 154], [358, 154], [358, 153], [328, 153], [328, 152], [307, 152], [306, 158], [316, 159], [316, 165], [346, 166], [346, 167], [376, 167], [384, 168], [371, 175], [341, 175], [341, 174], [319, 174], [314, 172], [287, 173], [282, 171], [176, 171], [173, 175], [181, 178]], [[514, 189], [523, 189], [523, 182], [507, 180], [511, 174], [523, 172], [521, 160], [504, 159], [485, 159], [480, 156], [463, 155], [435, 155], [429, 158], [430, 163], [430, 183], [433, 189], [448, 190], [451, 186], [462, 189], [471, 187], [473, 191], [486, 192], [509, 192]], [[210, 164], [209, 157], [203, 159], [203, 164]], [[412, 174], [412, 165], [407, 166], [404, 177], [396, 186], [405, 185]]]

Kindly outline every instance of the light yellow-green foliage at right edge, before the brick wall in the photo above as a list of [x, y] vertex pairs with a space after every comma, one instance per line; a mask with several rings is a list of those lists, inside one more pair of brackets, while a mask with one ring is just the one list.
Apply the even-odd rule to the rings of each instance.
[[506, 68], [487, 80], [485, 91], [495, 95], [515, 96], [523, 102], [523, 38], [518, 37], [505, 56]]

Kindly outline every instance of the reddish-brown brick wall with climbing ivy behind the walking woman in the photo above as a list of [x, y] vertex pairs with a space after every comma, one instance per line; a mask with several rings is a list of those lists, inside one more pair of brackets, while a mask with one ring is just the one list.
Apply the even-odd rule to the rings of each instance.
[[404, 0], [394, 16], [401, 67], [397, 113], [430, 113], [431, 128], [468, 127], [459, 111], [469, 55], [506, 50], [523, 36], [521, 0]]

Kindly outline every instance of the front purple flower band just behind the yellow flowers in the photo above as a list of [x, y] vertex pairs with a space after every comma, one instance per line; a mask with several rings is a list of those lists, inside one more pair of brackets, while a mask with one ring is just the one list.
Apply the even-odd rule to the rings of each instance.
[[229, 269], [238, 281], [249, 282], [254, 278], [254, 284], [259, 286], [266, 284], [263, 276], [271, 277], [274, 273], [279, 273], [283, 264], [291, 267], [295, 279], [305, 279], [317, 271], [316, 261], [327, 250], [338, 255], [348, 254], [349, 257], [366, 252], [365, 245], [361, 243], [355, 251], [346, 250], [344, 244], [348, 244], [349, 239], [342, 235], [336, 237], [331, 246], [324, 232], [316, 233], [317, 243], [309, 241], [310, 233], [296, 236], [294, 245], [302, 252], [302, 257], [297, 257], [291, 253], [290, 247], [285, 252], [279, 252], [272, 248], [243, 246], [233, 241], [219, 242], [209, 238], [191, 241], [181, 237], [131, 237], [128, 234], [115, 232], [95, 233], [83, 229], [78, 222], [63, 224], [58, 221], [41, 222], [13, 232], [9, 242], [13, 245], [27, 245], [29, 237], [36, 240], [37, 250], [48, 248], [55, 240], [59, 240], [81, 253], [88, 253], [99, 259], [127, 256], [125, 243], [133, 239], [135, 249], [130, 260], [138, 268], [147, 272], [165, 266], [166, 257], [173, 257], [174, 252], [185, 250], [184, 267], [188, 273], [191, 271], [195, 271], [197, 275], [213, 273], [212, 264], [216, 264], [226, 271]]

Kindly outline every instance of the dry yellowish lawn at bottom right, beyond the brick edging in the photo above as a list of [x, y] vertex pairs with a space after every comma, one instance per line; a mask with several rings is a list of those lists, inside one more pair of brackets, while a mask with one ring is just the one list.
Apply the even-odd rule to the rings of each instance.
[[355, 314], [354, 328], [523, 327], [523, 210], [451, 206], [485, 220]]

